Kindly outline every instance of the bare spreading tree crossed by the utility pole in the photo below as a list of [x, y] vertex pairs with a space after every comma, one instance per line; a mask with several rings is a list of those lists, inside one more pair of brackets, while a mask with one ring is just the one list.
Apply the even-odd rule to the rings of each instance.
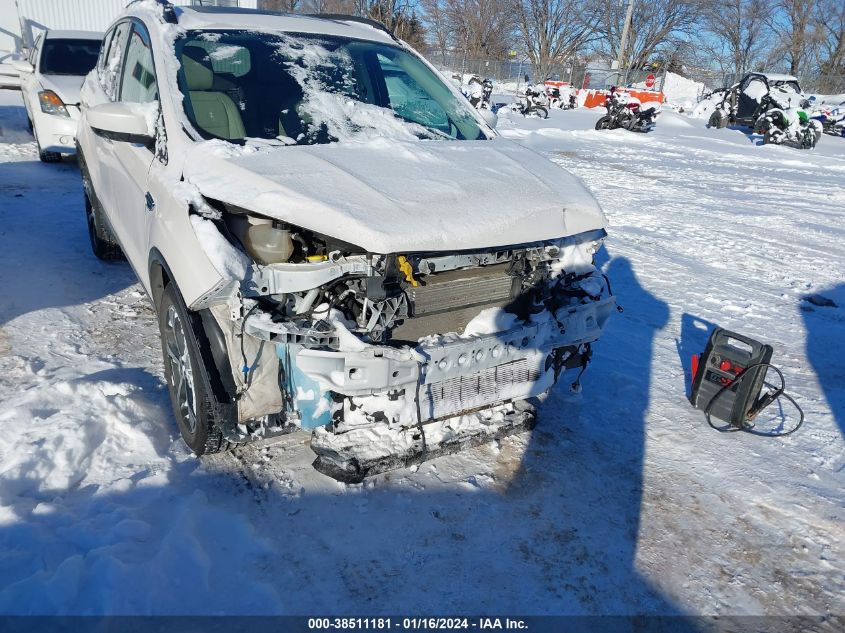
[[[624, 65], [641, 68], [658, 52], [677, 50], [681, 37], [699, 21], [699, 5], [698, 0], [636, 0]], [[609, 2], [599, 26], [603, 48], [614, 59], [619, 55], [625, 11], [625, 5]]]

